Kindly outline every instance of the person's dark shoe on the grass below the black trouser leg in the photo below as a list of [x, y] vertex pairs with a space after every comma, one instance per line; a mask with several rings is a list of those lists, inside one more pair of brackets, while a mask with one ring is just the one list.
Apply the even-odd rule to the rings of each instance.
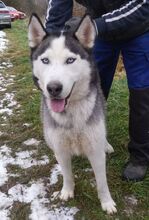
[[147, 168], [147, 165], [140, 165], [129, 161], [123, 171], [122, 180], [141, 181], [146, 175]]

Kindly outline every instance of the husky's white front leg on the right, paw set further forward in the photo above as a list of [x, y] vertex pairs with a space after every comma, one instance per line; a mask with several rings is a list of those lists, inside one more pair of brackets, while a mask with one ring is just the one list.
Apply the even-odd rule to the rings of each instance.
[[110, 195], [106, 178], [105, 152], [101, 152], [98, 146], [97, 149], [93, 149], [93, 151], [88, 154], [88, 159], [95, 173], [98, 197], [101, 201], [102, 209], [108, 214], [115, 213], [117, 211], [115, 208], [116, 204]]

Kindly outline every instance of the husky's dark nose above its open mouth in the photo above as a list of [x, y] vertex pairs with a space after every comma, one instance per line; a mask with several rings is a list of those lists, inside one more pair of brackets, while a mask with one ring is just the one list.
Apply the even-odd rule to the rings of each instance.
[[51, 82], [47, 85], [47, 90], [49, 94], [52, 95], [53, 97], [60, 95], [60, 93], [62, 92], [62, 89], [63, 89], [62, 84], [56, 81]]

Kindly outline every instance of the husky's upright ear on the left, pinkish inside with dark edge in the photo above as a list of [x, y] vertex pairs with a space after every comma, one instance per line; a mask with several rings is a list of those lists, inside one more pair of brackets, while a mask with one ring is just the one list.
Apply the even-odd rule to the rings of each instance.
[[32, 14], [28, 25], [29, 46], [34, 48], [38, 46], [46, 36], [46, 30], [36, 14]]

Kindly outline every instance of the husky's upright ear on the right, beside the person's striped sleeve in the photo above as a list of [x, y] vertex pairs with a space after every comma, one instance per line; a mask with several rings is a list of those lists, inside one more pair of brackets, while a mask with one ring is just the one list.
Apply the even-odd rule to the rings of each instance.
[[96, 38], [96, 28], [89, 15], [85, 15], [75, 32], [75, 37], [85, 48], [92, 48]]

